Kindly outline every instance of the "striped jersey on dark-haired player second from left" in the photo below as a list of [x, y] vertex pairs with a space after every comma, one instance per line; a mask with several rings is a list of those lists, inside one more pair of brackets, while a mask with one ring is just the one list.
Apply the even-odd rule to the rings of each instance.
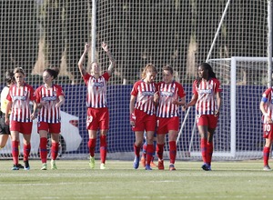
[[46, 105], [42, 106], [40, 109], [38, 114], [38, 122], [61, 122], [60, 108], [56, 107], [56, 103], [60, 101], [60, 95], [64, 95], [63, 89], [60, 85], [52, 85], [50, 88], [46, 88], [45, 85], [41, 85], [36, 89], [35, 96], [37, 104], [39, 104], [41, 101], [46, 102]]

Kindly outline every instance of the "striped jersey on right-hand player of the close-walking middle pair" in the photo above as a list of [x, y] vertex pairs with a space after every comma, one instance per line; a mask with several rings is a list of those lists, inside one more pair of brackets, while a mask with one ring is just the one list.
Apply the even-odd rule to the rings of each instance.
[[183, 86], [176, 81], [170, 84], [160, 82], [157, 84], [157, 90], [159, 92], [157, 116], [164, 118], [178, 116], [178, 105], [174, 105], [172, 102], [186, 95]]

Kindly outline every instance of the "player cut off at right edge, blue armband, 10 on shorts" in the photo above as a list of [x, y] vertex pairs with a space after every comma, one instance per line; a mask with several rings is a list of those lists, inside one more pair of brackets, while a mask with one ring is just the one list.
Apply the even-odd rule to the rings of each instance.
[[263, 114], [263, 137], [266, 139], [266, 144], [263, 150], [264, 156], [264, 170], [270, 171], [271, 168], [268, 165], [268, 159], [270, 155], [270, 147], [273, 140], [273, 88], [269, 87], [262, 95], [261, 102], [259, 104], [259, 109]]

